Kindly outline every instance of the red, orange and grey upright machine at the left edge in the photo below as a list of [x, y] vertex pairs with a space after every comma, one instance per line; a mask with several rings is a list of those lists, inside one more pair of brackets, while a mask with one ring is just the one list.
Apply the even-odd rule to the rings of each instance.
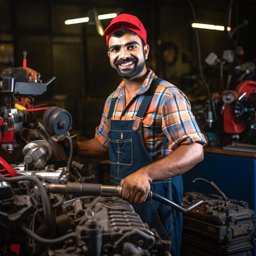
[[[17, 149], [17, 153], [17, 147], [22, 143], [18, 137], [14, 138], [14, 133], [19, 136], [23, 127], [35, 127], [35, 111], [48, 107], [34, 108], [34, 97], [43, 94], [47, 90], [47, 85], [55, 79], [52, 77], [43, 83], [40, 80], [41, 75], [27, 67], [26, 54], [23, 53], [23, 67], [8, 68], [0, 75], [0, 156], [6, 161], [10, 158], [12, 162], [18, 160], [18, 157], [16, 154], [12, 159], [11, 153], [14, 149]], [[38, 137], [33, 133], [34, 131], [31, 131], [30, 139]], [[22, 138], [22, 145], [25, 145], [24, 142], [27, 143], [27, 139]]]

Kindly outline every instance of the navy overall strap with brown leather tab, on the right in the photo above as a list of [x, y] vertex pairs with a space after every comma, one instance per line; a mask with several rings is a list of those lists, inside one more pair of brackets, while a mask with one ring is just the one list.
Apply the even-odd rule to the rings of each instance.
[[150, 101], [151, 101], [151, 99], [152, 99], [152, 97], [153, 97], [153, 95], [156, 91], [157, 85], [161, 81], [163, 81], [163, 79], [161, 79], [159, 77], [155, 78], [152, 81], [148, 91], [145, 92], [145, 94], [144, 94], [145, 97], [143, 98], [143, 100], [141, 102], [141, 105], [139, 107], [139, 110], [137, 112], [137, 115], [135, 116], [135, 120], [134, 120], [134, 123], [133, 123], [133, 126], [132, 126], [133, 131], [138, 131], [139, 130], [140, 122], [141, 122], [141, 120], [142, 120], [142, 118], [143, 118], [143, 116], [144, 116], [144, 114], [145, 114], [145, 112], [148, 108], [148, 105], [149, 105], [149, 103], [150, 103]]

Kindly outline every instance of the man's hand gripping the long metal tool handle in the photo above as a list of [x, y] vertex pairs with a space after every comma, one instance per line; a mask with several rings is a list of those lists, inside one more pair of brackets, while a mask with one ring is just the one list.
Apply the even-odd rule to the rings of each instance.
[[145, 202], [150, 190], [151, 180], [142, 169], [121, 180], [123, 185], [122, 199], [129, 203]]

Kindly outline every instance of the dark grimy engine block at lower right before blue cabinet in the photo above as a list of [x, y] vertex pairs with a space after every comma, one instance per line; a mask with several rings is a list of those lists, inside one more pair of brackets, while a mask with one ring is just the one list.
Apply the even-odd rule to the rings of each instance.
[[198, 199], [204, 203], [183, 214], [184, 255], [194, 249], [203, 250], [203, 255], [207, 251], [214, 252], [210, 255], [251, 255], [256, 224], [254, 211], [248, 204], [235, 199], [223, 200], [217, 195], [189, 192], [183, 195], [182, 205], [186, 207]]

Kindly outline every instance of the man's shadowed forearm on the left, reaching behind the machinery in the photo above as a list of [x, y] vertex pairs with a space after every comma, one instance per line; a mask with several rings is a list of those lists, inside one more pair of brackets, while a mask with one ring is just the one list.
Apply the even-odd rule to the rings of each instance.
[[108, 149], [103, 147], [101, 143], [93, 138], [88, 141], [77, 142], [77, 155], [87, 158], [96, 158], [108, 155]]

